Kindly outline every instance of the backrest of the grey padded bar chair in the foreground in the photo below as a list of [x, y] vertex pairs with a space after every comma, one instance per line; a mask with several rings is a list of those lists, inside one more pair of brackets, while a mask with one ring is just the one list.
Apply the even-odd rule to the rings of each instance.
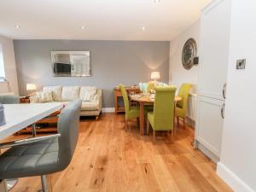
[[59, 137], [59, 165], [67, 166], [73, 158], [74, 150], [79, 139], [79, 118], [81, 110], [81, 100], [75, 100], [67, 104], [61, 110], [58, 119]]

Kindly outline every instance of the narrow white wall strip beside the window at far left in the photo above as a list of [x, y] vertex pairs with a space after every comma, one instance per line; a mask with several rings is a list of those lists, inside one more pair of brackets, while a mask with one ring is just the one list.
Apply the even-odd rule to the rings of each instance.
[[[0, 44], [3, 49], [3, 63], [5, 70], [5, 78], [9, 81], [10, 88], [15, 95], [19, 95], [18, 81], [15, 64], [15, 50], [13, 40], [0, 36]], [[9, 91], [6, 83], [0, 83], [0, 93]]]

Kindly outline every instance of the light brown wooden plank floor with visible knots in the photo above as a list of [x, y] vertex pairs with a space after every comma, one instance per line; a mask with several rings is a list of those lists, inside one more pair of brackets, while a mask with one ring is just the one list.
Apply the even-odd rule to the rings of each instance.
[[[125, 131], [124, 115], [103, 113], [82, 119], [73, 161], [51, 175], [53, 192], [86, 191], [232, 191], [215, 173], [216, 166], [194, 150], [191, 128], [178, 128], [177, 140], [157, 134], [139, 137], [137, 122]], [[20, 136], [19, 136], [20, 137]], [[40, 189], [39, 177], [20, 178], [11, 192]]]

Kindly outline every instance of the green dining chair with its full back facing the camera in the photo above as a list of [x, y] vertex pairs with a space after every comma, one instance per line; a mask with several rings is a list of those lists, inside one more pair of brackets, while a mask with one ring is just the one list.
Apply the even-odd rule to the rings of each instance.
[[147, 134], [149, 125], [153, 129], [153, 143], [155, 143], [155, 131], [172, 131], [174, 120], [174, 98], [176, 87], [165, 86], [155, 88], [154, 111], [148, 112]]

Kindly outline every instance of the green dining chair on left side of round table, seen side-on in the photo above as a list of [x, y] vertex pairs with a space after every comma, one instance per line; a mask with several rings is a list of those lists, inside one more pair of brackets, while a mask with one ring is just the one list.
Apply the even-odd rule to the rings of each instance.
[[140, 117], [140, 108], [136, 107], [131, 107], [130, 102], [127, 96], [127, 92], [125, 90], [125, 86], [123, 84], [119, 84], [119, 89], [121, 90], [124, 103], [125, 103], [125, 127], [129, 127], [128, 121], [131, 119], [137, 118], [137, 122]]

